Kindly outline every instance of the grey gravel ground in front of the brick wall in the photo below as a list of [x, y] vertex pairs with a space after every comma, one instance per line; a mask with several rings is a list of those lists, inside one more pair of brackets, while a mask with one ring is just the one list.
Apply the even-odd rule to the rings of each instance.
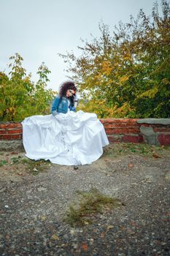
[[[92, 165], [49, 165], [36, 176], [1, 162], [0, 255], [170, 255], [169, 153], [117, 143]], [[1, 156], [10, 154], [23, 156]], [[123, 206], [94, 214], [92, 225], [71, 227], [63, 219], [77, 190], [91, 188]]]

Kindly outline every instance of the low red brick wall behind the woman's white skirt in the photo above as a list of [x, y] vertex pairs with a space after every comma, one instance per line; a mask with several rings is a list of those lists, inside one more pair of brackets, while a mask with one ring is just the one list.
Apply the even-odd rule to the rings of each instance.
[[[170, 118], [106, 118], [104, 124], [110, 143], [131, 142], [170, 145]], [[22, 124], [0, 122], [0, 140], [21, 140]]]

